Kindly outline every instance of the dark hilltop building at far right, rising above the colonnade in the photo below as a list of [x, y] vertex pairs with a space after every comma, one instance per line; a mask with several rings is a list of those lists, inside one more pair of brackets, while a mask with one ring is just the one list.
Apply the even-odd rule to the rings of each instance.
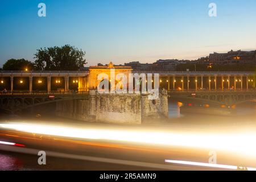
[[255, 64], [256, 51], [229, 51], [227, 53], [210, 53], [210, 64]]

